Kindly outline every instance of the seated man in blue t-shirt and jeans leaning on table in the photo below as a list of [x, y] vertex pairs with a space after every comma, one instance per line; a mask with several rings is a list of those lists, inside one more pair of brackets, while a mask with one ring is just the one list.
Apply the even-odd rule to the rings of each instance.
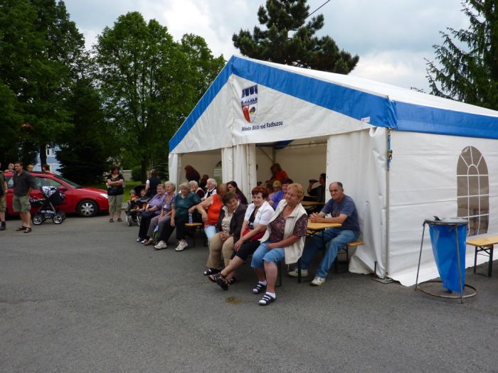
[[[309, 264], [314, 255], [322, 248], [324, 242], [327, 244], [324, 257], [320, 262], [314, 279], [313, 286], [320, 286], [325, 282], [332, 263], [337, 257], [339, 250], [348, 242], [353, 242], [359, 237], [360, 227], [358, 222], [358, 212], [356, 205], [349, 195], [344, 194], [342, 183], [334, 182], [329, 185], [329, 192], [332, 199], [327, 202], [319, 214], [314, 213], [309, 216], [309, 220], [319, 223], [340, 223], [341, 227], [328, 228], [313, 237], [309, 237], [304, 244], [304, 252], [301, 256], [301, 276], [308, 276]], [[327, 214], [332, 217], [325, 217]], [[297, 277], [297, 269], [289, 272], [289, 276]]]

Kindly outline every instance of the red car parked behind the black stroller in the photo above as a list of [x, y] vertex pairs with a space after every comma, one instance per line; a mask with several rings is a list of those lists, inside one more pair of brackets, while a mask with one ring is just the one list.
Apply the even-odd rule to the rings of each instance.
[[[57, 207], [58, 211], [91, 217], [100, 211], [109, 210], [107, 190], [83, 188], [81, 185], [53, 173], [33, 171], [31, 175], [35, 178], [36, 183], [36, 189], [31, 191], [31, 198], [43, 198], [40, 190], [42, 186], [55, 186], [65, 194], [63, 204]], [[7, 187], [9, 188], [6, 193], [7, 212], [10, 215], [14, 215], [16, 214], [12, 210], [12, 197], [14, 196], [14, 180], [12, 177], [14, 173], [5, 172], [4, 176]], [[36, 212], [36, 208], [31, 209], [31, 212]]]

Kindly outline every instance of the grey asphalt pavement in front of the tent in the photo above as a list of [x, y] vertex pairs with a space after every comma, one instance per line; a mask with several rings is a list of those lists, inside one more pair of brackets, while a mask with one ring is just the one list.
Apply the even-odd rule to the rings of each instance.
[[248, 266], [227, 292], [202, 276], [206, 248], [157, 252], [105, 216], [17, 225], [0, 232], [1, 372], [498, 372], [496, 261], [467, 271], [463, 305], [346, 273], [284, 278], [261, 307]]

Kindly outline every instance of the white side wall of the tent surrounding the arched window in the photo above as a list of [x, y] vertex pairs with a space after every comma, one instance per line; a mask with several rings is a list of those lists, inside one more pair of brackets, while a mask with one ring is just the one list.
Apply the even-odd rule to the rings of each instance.
[[[489, 227], [498, 234], [498, 141], [458, 136], [391, 132], [393, 160], [389, 171], [388, 276], [405, 286], [415, 283], [423, 221], [457, 216], [457, 162], [467, 146], [484, 157], [489, 172]], [[478, 257], [479, 262], [487, 259]], [[474, 264], [467, 249], [466, 266]], [[428, 227], [418, 281], [438, 276]]]

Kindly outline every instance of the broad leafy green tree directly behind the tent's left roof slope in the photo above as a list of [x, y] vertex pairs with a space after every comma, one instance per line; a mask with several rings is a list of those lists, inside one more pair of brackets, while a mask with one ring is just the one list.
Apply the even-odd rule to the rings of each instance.
[[138, 12], [105, 28], [94, 52], [105, 113], [120, 134], [112, 144], [139, 160], [144, 182], [149, 161], [164, 163], [168, 139], [211, 84], [219, 60], [202, 38], [184, 36], [179, 45]]

